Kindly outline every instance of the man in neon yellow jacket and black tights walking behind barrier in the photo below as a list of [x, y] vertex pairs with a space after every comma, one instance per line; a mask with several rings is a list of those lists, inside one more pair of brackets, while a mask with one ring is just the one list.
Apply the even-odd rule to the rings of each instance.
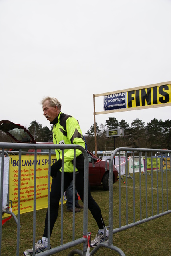
[[[43, 114], [48, 121], [53, 124], [53, 142], [54, 144], [78, 144], [85, 148], [85, 142], [82, 137], [82, 131], [75, 118], [61, 112], [61, 104], [56, 98], [46, 97], [42, 99]], [[50, 192], [50, 237], [54, 224], [58, 217], [59, 201], [61, 198], [61, 167], [62, 167], [62, 150], [56, 151], [56, 163], [51, 166], [51, 192]], [[83, 153], [76, 149], [76, 189], [83, 202], [84, 198], [84, 156]], [[70, 185], [73, 179], [73, 161], [74, 150], [66, 149], [64, 151], [64, 191]], [[63, 192], [64, 192], [63, 191]], [[98, 233], [91, 246], [95, 247], [101, 242], [105, 242], [108, 238], [108, 230], [106, 230], [106, 238], [104, 238], [105, 223], [101, 214], [101, 209], [91, 196], [90, 186], [88, 188], [88, 208], [98, 225]], [[59, 228], [60, 229], [60, 228]], [[51, 248], [51, 246], [50, 246]], [[46, 251], [48, 249], [48, 211], [45, 218], [45, 227], [42, 239], [35, 245], [35, 254]], [[33, 248], [23, 252], [25, 256], [33, 255]]]

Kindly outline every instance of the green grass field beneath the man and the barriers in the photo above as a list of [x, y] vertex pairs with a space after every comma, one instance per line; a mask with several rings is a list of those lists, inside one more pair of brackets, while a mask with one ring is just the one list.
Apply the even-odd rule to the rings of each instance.
[[[157, 214], [157, 180], [156, 172], [153, 172], [153, 190], [151, 189], [152, 177], [141, 175], [141, 197], [142, 197], [142, 219], [146, 218], [146, 208], [148, 217], [152, 214], [152, 200], [151, 194], [153, 191], [153, 214]], [[124, 178], [125, 180], [125, 178]], [[166, 195], [168, 194], [168, 210], [171, 209], [171, 174], [168, 172], [168, 184], [166, 182], [166, 173], [163, 173], [163, 185], [161, 180], [161, 172], [158, 173], [158, 186], [159, 186], [159, 213], [167, 210]], [[128, 223], [140, 220], [140, 206], [139, 206], [139, 174], [135, 174], [135, 191], [133, 193], [133, 180], [128, 178]], [[147, 184], [147, 188], [146, 188]], [[168, 185], [168, 190], [166, 189]], [[163, 189], [161, 189], [163, 186]], [[107, 191], [103, 191], [102, 187], [91, 188], [91, 193], [96, 202], [101, 207], [101, 212], [105, 220], [106, 226], [108, 225], [108, 196]], [[163, 200], [162, 200], [163, 193]], [[146, 200], [147, 196], [147, 200]], [[133, 198], [135, 198], [135, 207], [133, 206]], [[82, 204], [82, 202], [80, 202]], [[126, 224], [126, 184], [121, 181], [121, 226]], [[113, 185], [113, 228], [119, 226], [119, 182]], [[133, 211], [133, 209], [135, 209]], [[47, 209], [38, 210], [36, 212], [36, 240], [42, 238], [44, 230], [44, 218]], [[60, 211], [59, 211], [60, 212]], [[32, 248], [32, 229], [33, 229], [33, 213], [28, 212], [21, 214], [20, 224], [20, 255], [23, 251]], [[97, 224], [91, 213], [88, 217], [88, 231], [91, 232], [93, 239], [97, 233]], [[83, 211], [76, 214], [75, 223], [75, 238], [82, 236], [83, 230]], [[17, 240], [17, 225], [13, 218], [2, 226], [2, 249], [1, 256], [14, 256], [16, 255], [16, 240]], [[66, 212], [64, 205], [64, 240], [65, 242], [72, 241], [72, 213]], [[55, 247], [60, 245], [60, 213], [54, 230], [51, 236], [51, 246]], [[113, 245], [121, 248], [126, 256], [169, 256], [171, 255], [171, 214], [167, 214], [155, 220], [140, 224], [139, 226], [129, 228], [125, 231], [118, 232], [113, 235]], [[77, 246], [82, 250], [82, 245]], [[59, 252], [58, 256], [67, 256], [73, 248]], [[96, 256], [116, 256], [117, 252], [101, 248], [96, 253]]]

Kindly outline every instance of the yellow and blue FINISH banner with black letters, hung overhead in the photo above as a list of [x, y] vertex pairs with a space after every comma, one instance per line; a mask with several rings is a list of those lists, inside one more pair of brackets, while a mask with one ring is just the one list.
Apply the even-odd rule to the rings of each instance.
[[104, 111], [131, 108], [152, 108], [171, 105], [171, 84], [162, 83], [113, 92], [104, 95]]

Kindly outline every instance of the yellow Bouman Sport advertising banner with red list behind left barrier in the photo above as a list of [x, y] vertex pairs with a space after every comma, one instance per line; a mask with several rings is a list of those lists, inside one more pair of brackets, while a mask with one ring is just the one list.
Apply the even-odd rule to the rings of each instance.
[[[34, 196], [34, 155], [21, 158], [21, 189], [18, 194], [18, 156], [10, 156], [9, 165], [9, 199], [12, 200], [12, 212], [17, 214], [18, 196], [20, 196], [20, 213], [33, 211]], [[51, 165], [56, 156], [51, 156]], [[48, 155], [37, 156], [36, 168], [36, 210], [48, 207]], [[51, 178], [52, 181], [52, 178]], [[66, 197], [63, 198], [66, 200]]]

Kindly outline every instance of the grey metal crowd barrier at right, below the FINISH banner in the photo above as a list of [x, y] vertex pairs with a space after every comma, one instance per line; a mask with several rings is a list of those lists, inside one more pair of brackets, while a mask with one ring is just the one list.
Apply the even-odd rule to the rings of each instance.
[[[126, 182], [123, 184], [121, 177], [121, 151], [125, 151], [125, 177]], [[113, 161], [115, 155], [119, 152], [119, 217], [118, 219], [113, 219], [113, 212], [116, 208], [116, 205], [113, 206], [113, 198], [117, 198], [118, 195], [113, 193]], [[132, 188], [130, 192], [130, 188], [128, 186], [128, 178], [130, 178], [128, 171], [128, 159], [130, 153], [133, 157], [133, 177], [129, 179], [129, 184], [131, 183]], [[138, 156], [139, 163], [141, 163], [141, 154], [145, 154], [145, 170], [141, 172], [141, 164], [139, 164], [139, 172], [135, 173], [135, 157]], [[151, 165], [151, 173], [150, 176], [149, 171], [147, 172], [147, 156], [151, 158], [151, 162], [153, 162], [154, 156], [156, 158], [157, 163], [157, 153], [161, 153], [161, 161], [160, 165], [156, 166], [156, 170], [153, 170], [153, 165]], [[167, 153], [170, 153], [170, 156], [167, 156]], [[136, 156], [135, 156], [136, 155]], [[167, 159], [167, 160], [166, 160]], [[168, 160], [169, 159], [169, 160]], [[165, 161], [165, 170], [163, 170], [162, 162]], [[171, 150], [159, 150], [159, 149], [147, 149], [147, 148], [117, 148], [111, 154], [109, 160], [109, 241], [108, 243], [101, 243], [96, 246], [91, 251], [90, 255], [94, 255], [97, 250], [101, 247], [105, 247], [107, 249], [118, 252], [119, 255], [125, 256], [125, 253], [118, 247], [113, 245], [113, 234], [120, 232], [122, 230], [126, 230], [128, 228], [132, 228], [139, 224], [148, 222], [150, 220], [154, 220], [161, 216], [171, 213], [171, 172], [170, 172], [170, 163], [171, 162]], [[160, 171], [160, 173], [159, 173]], [[169, 175], [170, 173], [170, 175]], [[144, 175], [145, 174], [145, 175]], [[148, 177], [148, 178], [147, 178]], [[144, 181], [145, 179], [145, 181]], [[138, 182], [137, 182], [138, 180]], [[150, 182], [149, 182], [150, 180]], [[145, 188], [142, 188], [142, 182], [145, 183]], [[144, 184], [143, 183], [143, 184]], [[121, 185], [122, 184], [122, 185]], [[137, 186], [138, 184], [138, 186]], [[125, 186], [123, 188], [123, 186]], [[169, 188], [168, 188], [169, 187]], [[136, 193], [135, 193], [136, 189]], [[150, 193], [148, 192], [148, 189]], [[122, 198], [121, 192], [125, 190], [125, 198], [124, 203], [121, 205]], [[143, 192], [143, 190], [145, 192]], [[138, 191], [138, 193], [137, 193]], [[138, 194], [138, 196], [137, 196]], [[131, 204], [129, 202], [129, 198], [132, 197]], [[143, 202], [145, 197], [145, 202]], [[137, 203], [138, 200], [138, 203]], [[157, 204], [157, 208], [154, 205]], [[131, 216], [130, 216], [131, 210]], [[115, 228], [113, 227], [113, 222], [115, 224]]]

